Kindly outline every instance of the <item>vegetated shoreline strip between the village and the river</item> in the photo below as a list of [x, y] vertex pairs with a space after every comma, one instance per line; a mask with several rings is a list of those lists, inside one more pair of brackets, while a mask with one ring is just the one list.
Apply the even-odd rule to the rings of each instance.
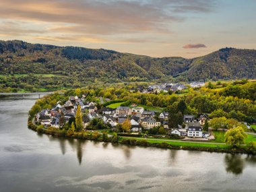
[[[202, 147], [202, 146], [179, 146], [168, 143], [168, 141], [148, 141], [150, 139], [143, 138], [129, 138], [129, 137], [119, 137], [118, 140], [113, 140], [112, 137], [108, 137], [103, 139], [100, 135], [99, 137], [92, 137], [92, 135], [87, 134], [87, 131], [83, 132], [74, 132], [72, 135], [67, 135], [67, 131], [55, 131], [49, 129], [37, 129], [38, 126], [28, 119], [28, 129], [32, 129], [38, 133], [44, 133], [46, 135], [52, 135], [53, 137], [65, 137], [65, 138], [73, 138], [73, 139], [84, 139], [84, 140], [92, 140], [92, 141], [101, 141], [108, 143], [121, 143], [127, 146], [143, 146], [143, 147], [154, 147], [154, 148], [163, 148], [169, 150], [193, 150], [193, 151], [201, 151], [201, 152], [218, 152], [218, 153], [228, 153], [228, 154], [251, 154], [255, 155], [255, 151], [249, 151], [246, 148], [231, 148], [231, 146], [226, 146], [225, 148], [221, 147]], [[171, 140], [170, 140], [171, 141]], [[179, 141], [177, 141], [179, 142]], [[185, 141], [189, 143], [188, 141]], [[212, 143], [214, 144], [214, 143]], [[223, 145], [224, 146], [224, 145]]]

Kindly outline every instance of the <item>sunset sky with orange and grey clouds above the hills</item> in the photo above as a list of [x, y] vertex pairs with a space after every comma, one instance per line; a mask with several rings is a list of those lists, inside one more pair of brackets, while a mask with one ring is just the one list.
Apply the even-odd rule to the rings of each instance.
[[256, 49], [255, 0], [0, 0], [0, 40], [193, 58]]

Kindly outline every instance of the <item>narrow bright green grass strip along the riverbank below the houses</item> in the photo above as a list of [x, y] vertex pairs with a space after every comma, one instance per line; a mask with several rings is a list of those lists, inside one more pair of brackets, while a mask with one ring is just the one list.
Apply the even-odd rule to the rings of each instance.
[[[142, 138], [136, 138], [136, 137], [127, 137], [129, 139], [136, 139], [141, 140]], [[206, 147], [206, 148], [229, 148], [229, 146], [226, 145], [218, 145], [215, 143], [191, 143], [189, 141], [159, 141], [155, 139], [146, 139], [149, 143], [168, 143], [172, 146], [193, 146], [193, 147]]]

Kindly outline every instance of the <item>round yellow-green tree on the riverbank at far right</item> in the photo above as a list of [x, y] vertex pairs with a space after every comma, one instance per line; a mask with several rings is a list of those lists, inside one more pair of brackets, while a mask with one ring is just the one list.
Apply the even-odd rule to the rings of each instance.
[[245, 138], [247, 134], [245, 133], [243, 127], [235, 127], [226, 131], [225, 143], [232, 145], [234, 148], [238, 145], [245, 143]]

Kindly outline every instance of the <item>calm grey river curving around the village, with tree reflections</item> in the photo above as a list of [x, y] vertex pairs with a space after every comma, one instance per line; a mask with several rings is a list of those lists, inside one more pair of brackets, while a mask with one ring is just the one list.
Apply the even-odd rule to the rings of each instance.
[[[34, 96], [36, 98], [36, 96]], [[0, 191], [256, 191], [256, 157], [38, 135], [36, 101], [0, 99]]]

